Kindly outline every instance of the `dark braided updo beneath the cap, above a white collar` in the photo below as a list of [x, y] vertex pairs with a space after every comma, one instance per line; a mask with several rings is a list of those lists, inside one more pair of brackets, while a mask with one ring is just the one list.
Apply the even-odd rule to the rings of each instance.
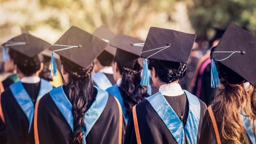
[[152, 70], [152, 67], [155, 68], [159, 79], [167, 84], [184, 77], [187, 70], [187, 64], [185, 63], [149, 59], [148, 69]]

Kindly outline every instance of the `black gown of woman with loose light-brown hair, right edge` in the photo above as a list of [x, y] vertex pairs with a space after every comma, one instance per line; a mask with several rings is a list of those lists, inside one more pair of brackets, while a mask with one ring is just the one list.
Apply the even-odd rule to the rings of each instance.
[[[214, 107], [212, 107], [212, 109], [214, 110]], [[216, 120], [216, 123], [217, 123], [218, 131], [220, 134], [221, 143], [222, 144], [230, 144], [231, 142], [224, 141], [223, 137], [221, 135], [222, 122]], [[205, 112], [205, 115], [203, 118], [203, 125], [202, 125], [202, 130], [201, 130], [201, 136], [199, 139], [199, 144], [217, 144], [216, 135], [215, 135], [215, 132], [213, 129], [212, 121], [211, 121], [208, 110]], [[252, 144], [247, 133], [246, 133], [246, 137], [245, 137], [245, 144]]]

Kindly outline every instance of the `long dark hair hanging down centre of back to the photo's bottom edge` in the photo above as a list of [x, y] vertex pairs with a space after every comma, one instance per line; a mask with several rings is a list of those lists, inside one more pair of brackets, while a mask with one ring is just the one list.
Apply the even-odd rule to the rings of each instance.
[[65, 72], [69, 73], [67, 86], [74, 117], [74, 133], [70, 138], [70, 143], [75, 144], [77, 140], [79, 141], [81, 139], [80, 134], [82, 129], [86, 133], [84, 124], [85, 113], [96, 97], [91, 79], [94, 64], [92, 63], [85, 69], [62, 56], [60, 60]]

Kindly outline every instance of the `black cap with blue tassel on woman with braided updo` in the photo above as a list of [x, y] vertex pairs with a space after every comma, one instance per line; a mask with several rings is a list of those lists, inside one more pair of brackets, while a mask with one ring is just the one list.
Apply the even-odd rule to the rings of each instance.
[[141, 52], [146, 59], [140, 84], [149, 84], [147, 58], [187, 64], [195, 39], [195, 34], [151, 27]]

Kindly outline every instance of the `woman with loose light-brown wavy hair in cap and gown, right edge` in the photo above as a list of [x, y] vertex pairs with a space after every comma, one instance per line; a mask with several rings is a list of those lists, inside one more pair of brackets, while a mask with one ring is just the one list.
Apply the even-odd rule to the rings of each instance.
[[230, 23], [211, 50], [214, 100], [203, 119], [199, 143], [256, 143], [256, 38]]

